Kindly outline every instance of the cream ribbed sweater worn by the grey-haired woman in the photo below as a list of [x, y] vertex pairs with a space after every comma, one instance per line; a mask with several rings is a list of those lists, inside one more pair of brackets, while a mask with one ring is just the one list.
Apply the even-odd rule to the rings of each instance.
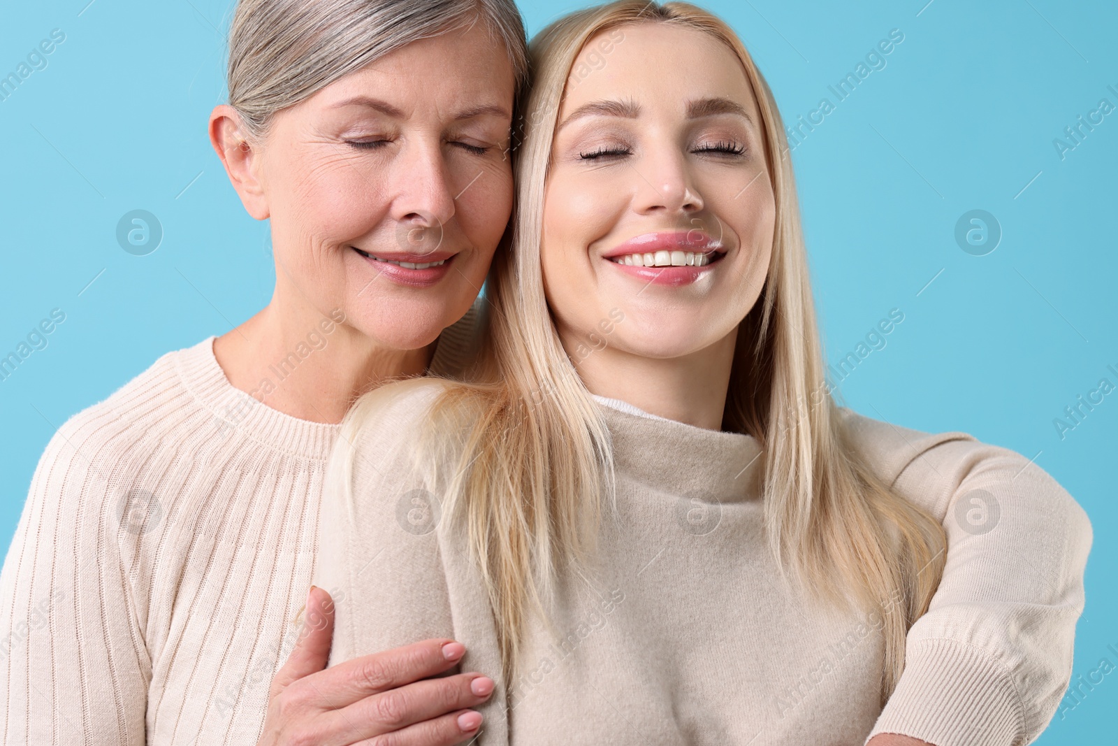
[[[473, 319], [433, 370], [459, 370]], [[214, 337], [63, 423], [0, 574], [0, 744], [255, 744], [339, 431], [234, 388]]]

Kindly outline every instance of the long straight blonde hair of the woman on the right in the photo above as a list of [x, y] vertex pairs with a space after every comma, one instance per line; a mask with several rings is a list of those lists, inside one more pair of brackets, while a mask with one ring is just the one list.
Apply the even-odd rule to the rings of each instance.
[[761, 295], [739, 327], [723, 427], [765, 448], [766, 532], [785, 578], [840, 607], [880, 613], [883, 705], [903, 669], [908, 629], [939, 584], [946, 536], [871, 471], [842, 428], [823, 383], [784, 126], [741, 41], [711, 13], [682, 2], [615, 2], [566, 16], [532, 40], [513, 248], [500, 252], [491, 271], [487, 355], [479, 380], [448, 385], [436, 400], [421, 460], [453, 464], [437, 481], [468, 528], [512, 682], [530, 606], [544, 611], [560, 566], [589, 570], [603, 507], [614, 506], [609, 434], [551, 322], [540, 240], [572, 64], [597, 34], [633, 22], [711, 35], [738, 56], [757, 95], [776, 200], [774, 251]]

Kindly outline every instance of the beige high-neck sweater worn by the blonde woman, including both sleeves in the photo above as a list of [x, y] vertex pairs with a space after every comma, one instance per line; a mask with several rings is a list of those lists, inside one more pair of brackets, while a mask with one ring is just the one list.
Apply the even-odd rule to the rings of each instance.
[[[465, 530], [442, 510], [437, 485], [408, 476], [439, 386], [397, 387], [352, 445], [338, 443], [352, 454], [352, 498], [328, 482], [314, 575], [342, 592], [331, 665], [417, 638], [463, 642], [462, 670], [498, 680], [480, 708], [482, 746], [837, 746], [883, 731], [1008, 746], [1048, 725], [1083, 604], [1086, 516], [1012, 452], [849, 410], [859, 447], [950, 540], [884, 711], [880, 618], [814, 606], [780, 583], [762, 536], [758, 442], [609, 399], [598, 402], [614, 438], [618, 517], [601, 528], [597, 582], [562, 576], [558, 636], [534, 620], [521, 676], [502, 681]], [[997, 517], [955, 519], [979, 490]]]

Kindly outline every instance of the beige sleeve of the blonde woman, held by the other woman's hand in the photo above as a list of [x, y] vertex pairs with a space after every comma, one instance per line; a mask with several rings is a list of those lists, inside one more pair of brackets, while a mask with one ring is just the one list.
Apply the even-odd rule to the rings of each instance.
[[440, 384], [382, 387], [354, 405], [329, 466], [313, 583], [335, 602], [328, 665], [432, 638], [466, 648], [457, 671], [498, 689], [477, 709], [479, 746], [508, 743], [489, 599], [443, 492], [417, 469], [419, 424]]

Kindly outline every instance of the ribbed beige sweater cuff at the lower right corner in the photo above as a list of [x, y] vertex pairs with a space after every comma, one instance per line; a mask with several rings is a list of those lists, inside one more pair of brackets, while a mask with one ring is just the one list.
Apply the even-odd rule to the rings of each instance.
[[1008, 671], [955, 640], [909, 645], [904, 671], [870, 738], [896, 733], [935, 746], [1025, 743], [1024, 710]]

